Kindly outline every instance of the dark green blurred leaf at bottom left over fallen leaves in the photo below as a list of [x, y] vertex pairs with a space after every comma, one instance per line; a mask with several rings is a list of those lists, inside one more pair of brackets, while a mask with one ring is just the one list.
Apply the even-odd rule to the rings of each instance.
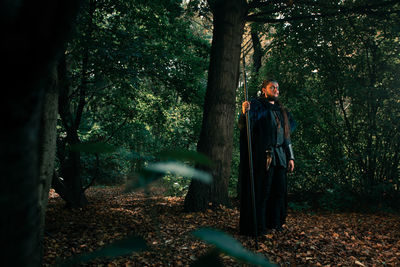
[[78, 263], [87, 262], [101, 257], [115, 258], [119, 256], [125, 256], [131, 254], [132, 252], [142, 251], [145, 249], [147, 249], [147, 245], [143, 238], [137, 236], [127, 237], [113, 242], [109, 246], [92, 253], [73, 257], [65, 261], [62, 266], [75, 266]]

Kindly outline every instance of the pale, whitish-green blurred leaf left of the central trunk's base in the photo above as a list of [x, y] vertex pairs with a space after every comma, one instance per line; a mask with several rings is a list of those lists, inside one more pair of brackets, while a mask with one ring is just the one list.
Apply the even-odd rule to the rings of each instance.
[[146, 170], [156, 173], [170, 173], [186, 178], [194, 178], [204, 183], [211, 183], [212, 181], [212, 177], [209, 173], [202, 170], [197, 170], [180, 162], [166, 161], [152, 163], [148, 167], [146, 167]]

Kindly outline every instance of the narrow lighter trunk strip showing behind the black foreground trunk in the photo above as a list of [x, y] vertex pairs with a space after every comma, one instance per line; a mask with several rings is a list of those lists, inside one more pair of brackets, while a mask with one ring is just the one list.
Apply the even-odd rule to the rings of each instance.
[[[39, 213], [40, 233], [44, 233], [45, 215], [49, 190], [54, 171], [57, 138], [58, 89], [56, 67], [49, 77], [45, 87], [42, 116], [39, 131]], [[42, 252], [42, 251], [41, 251]]]

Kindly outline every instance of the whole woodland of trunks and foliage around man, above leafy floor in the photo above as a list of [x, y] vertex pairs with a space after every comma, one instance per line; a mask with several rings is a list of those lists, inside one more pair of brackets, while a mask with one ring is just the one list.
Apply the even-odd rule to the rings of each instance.
[[13, 244], [2, 253], [21, 266], [42, 261], [51, 187], [72, 209], [89, 204], [90, 187], [135, 190], [153, 180], [184, 197], [185, 211], [231, 206], [243, 71], [250, 96], [263, 79], [278, 80], [297, 122], [292, 209], [399, 211], [399, 1], [2, 1], [0, 9], [9, 92], [2, 247]]

